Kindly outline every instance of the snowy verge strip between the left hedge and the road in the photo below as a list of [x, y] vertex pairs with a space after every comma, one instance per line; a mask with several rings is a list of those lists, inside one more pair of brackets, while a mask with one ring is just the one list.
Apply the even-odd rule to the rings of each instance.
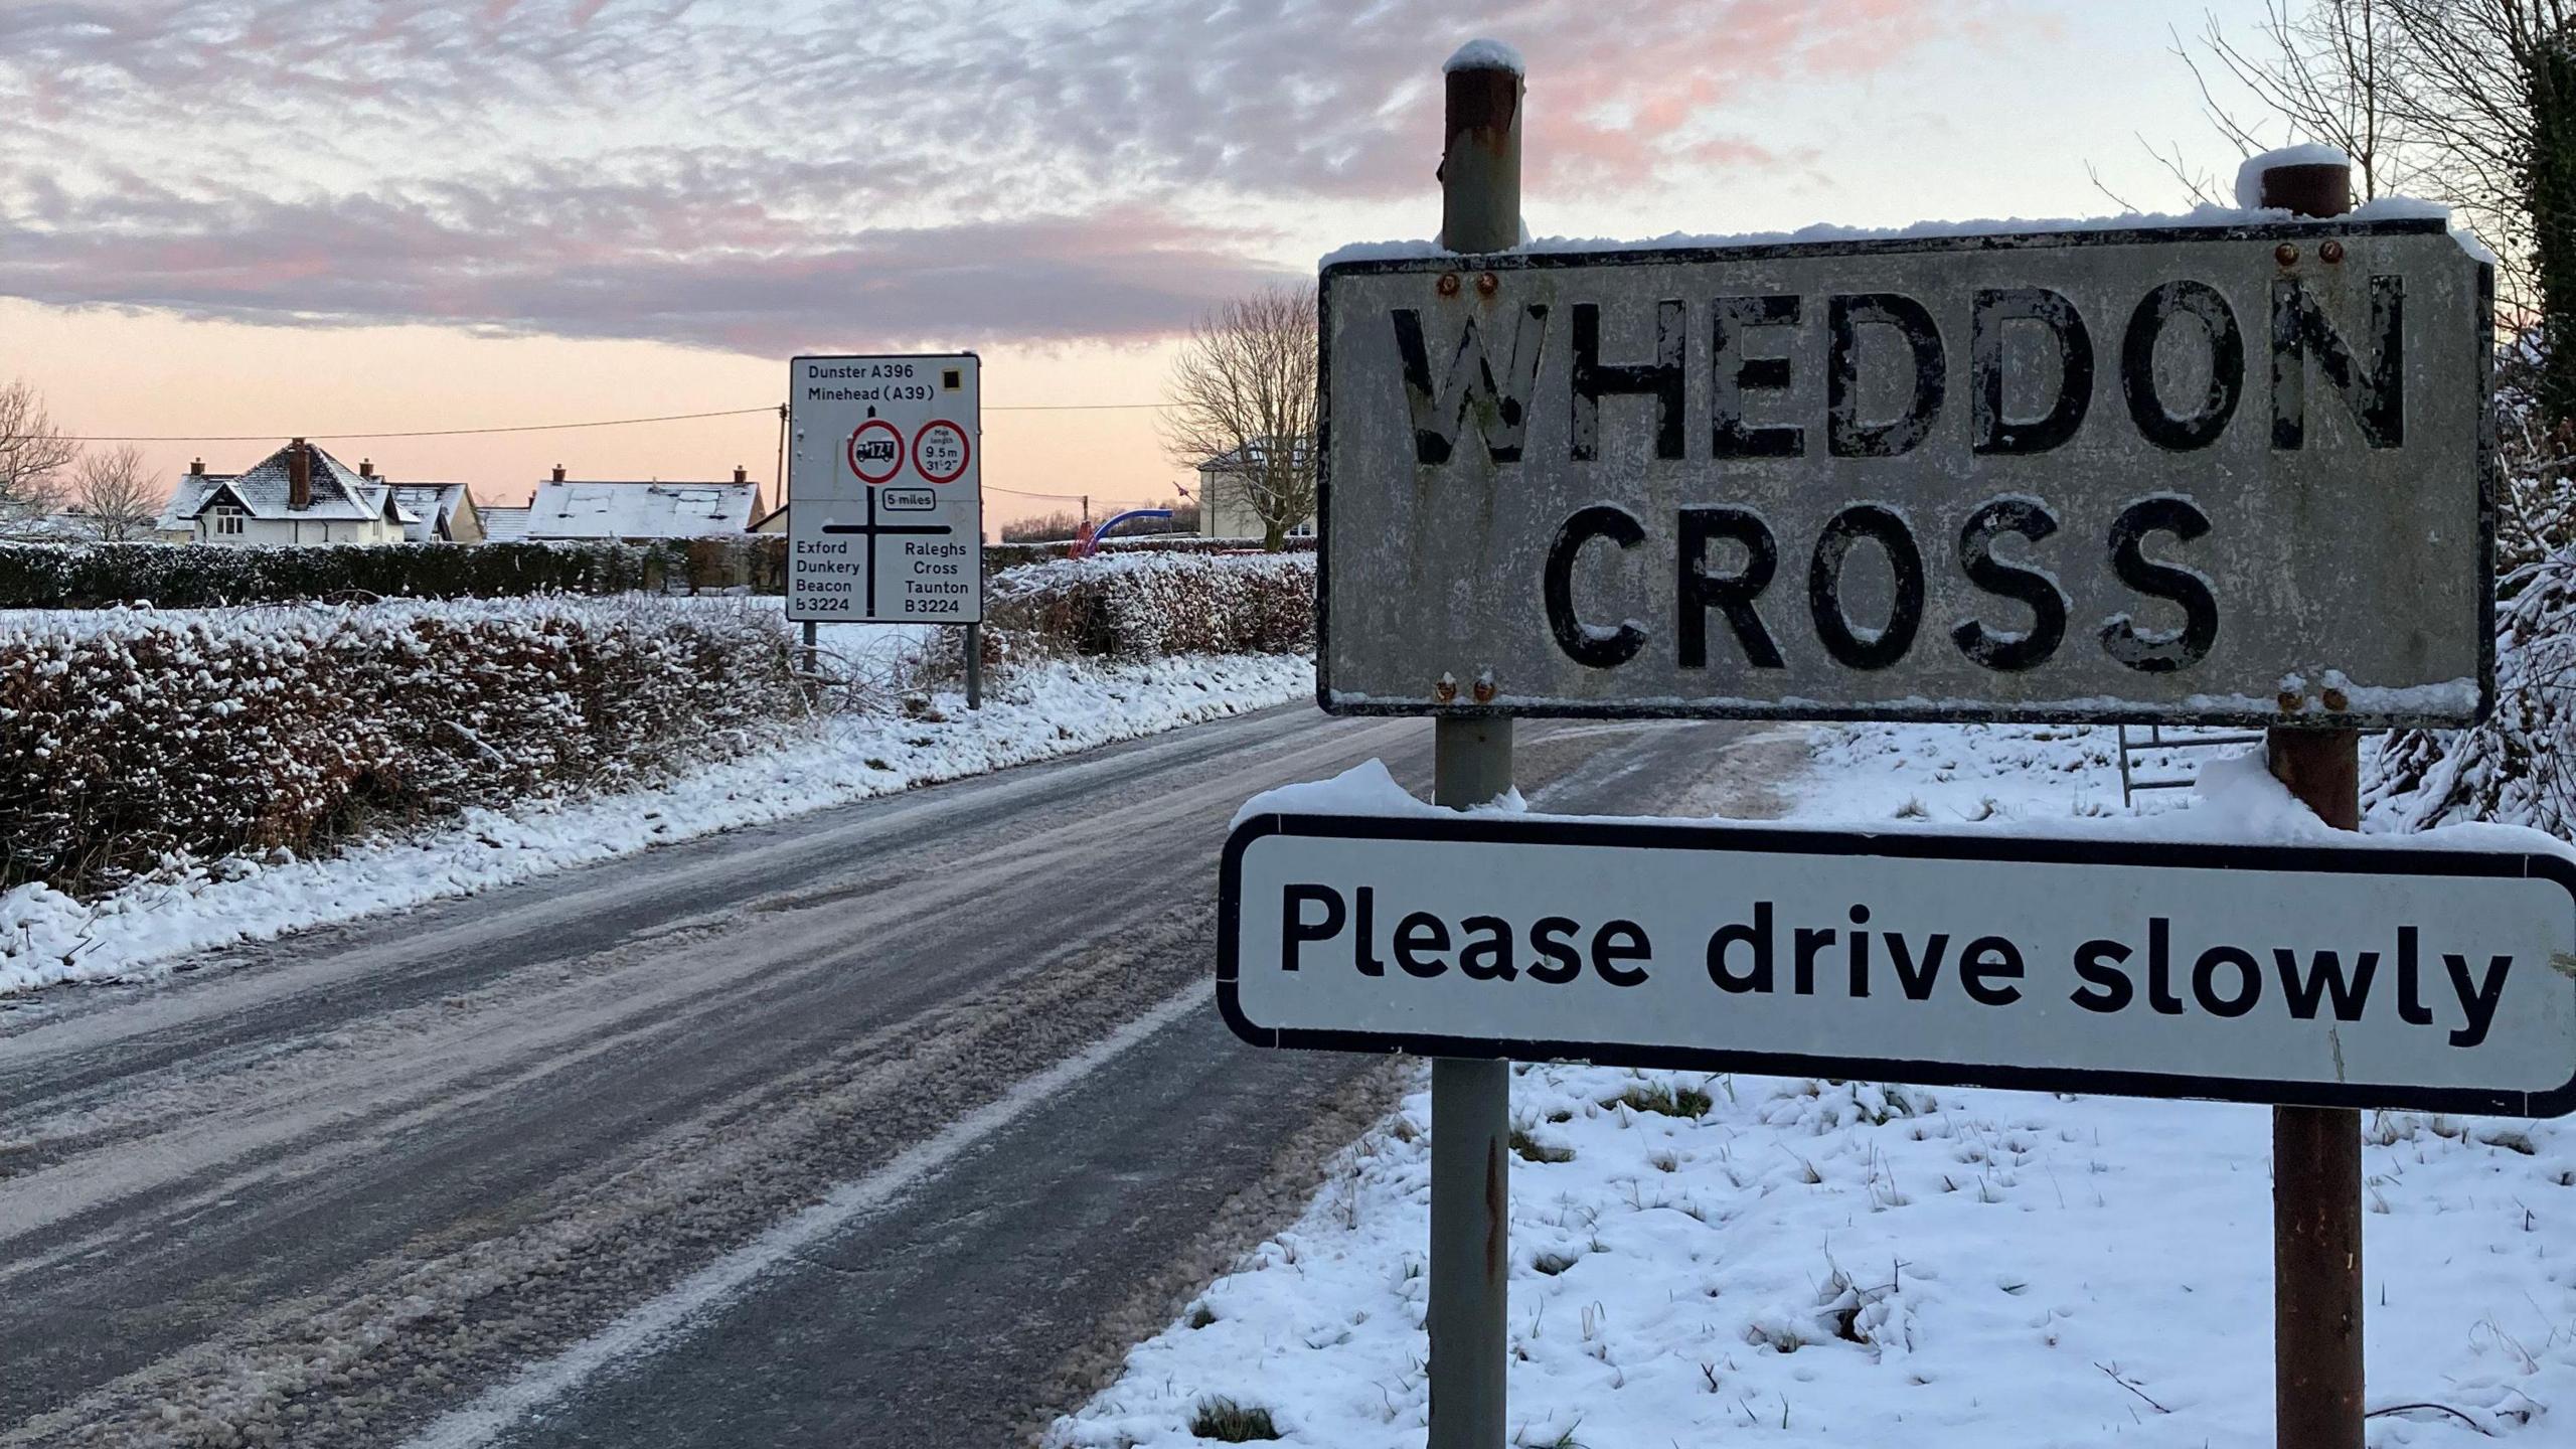
[[[824, 639], [829, 650], [835, 639]], [[863, 642], [850, 642], [860, 647]], [[0, 993], [167, 969], [191, 951], [471, 895], [737, 825], [1069, 755], [1113, 740], [1311, 699], [1298, 655], [1064, 660], [994, 681], [981, 712], [832, 714], [788, 745], [654, 789], [466, 810], [325, 859], [180, 864], [100, 900], [44, 884], [0, 892]]]

